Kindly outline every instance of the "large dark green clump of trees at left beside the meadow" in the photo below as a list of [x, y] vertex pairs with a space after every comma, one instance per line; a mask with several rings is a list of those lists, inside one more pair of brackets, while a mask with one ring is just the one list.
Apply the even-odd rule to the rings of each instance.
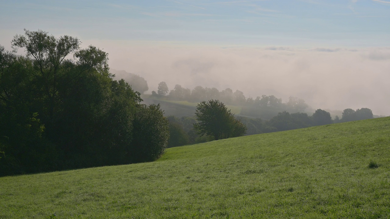
[[[114, 80], [108, 54], [25, 30], [0, 45], [0, 175], [153, 161], [167, 147], [159, 105]], [[24, 49], [26, 56], [16, 55]], [[73, 58], [69, 58], [73, 55]]]

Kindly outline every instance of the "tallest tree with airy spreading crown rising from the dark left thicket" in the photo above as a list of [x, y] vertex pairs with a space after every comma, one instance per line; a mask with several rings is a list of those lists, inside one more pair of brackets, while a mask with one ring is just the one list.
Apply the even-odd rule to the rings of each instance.
[[41, 87], [39, 95], [47, 102], [47, 114], [49, 119], [52, 119], [56, 103], [59, 102], [59, 83], [66, 73], [66, 62], [69, 62], [66, 57], [80, 48], [79, 39], [67, 35], [57, 39], [42, 30], [25, 29], [25, 34], [15, 35], [11, 44], [14, 52], [18, 48], [24, 48], [27, 57], [32, 57], [34, 83]]

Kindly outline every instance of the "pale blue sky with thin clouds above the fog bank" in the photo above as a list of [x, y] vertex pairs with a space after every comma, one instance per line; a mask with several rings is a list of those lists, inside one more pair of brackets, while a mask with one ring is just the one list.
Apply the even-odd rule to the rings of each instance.
[[82, 39], [390, 46], [390, 0], [69, 0], [0, 4], [0, 29], [13, 35], [23, 33], [23, 28], [39, 28]]

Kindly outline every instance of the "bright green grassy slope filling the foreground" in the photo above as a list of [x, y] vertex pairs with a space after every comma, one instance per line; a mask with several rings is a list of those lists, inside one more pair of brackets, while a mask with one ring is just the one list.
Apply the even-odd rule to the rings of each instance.
[[2, 177], [0, 218], [390, 218], [390, 117]]

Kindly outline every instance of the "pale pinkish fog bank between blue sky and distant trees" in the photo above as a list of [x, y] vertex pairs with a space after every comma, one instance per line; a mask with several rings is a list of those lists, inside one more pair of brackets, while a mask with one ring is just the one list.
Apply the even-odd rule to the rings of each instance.
[[370, 108], [390, 115], [390, 48], [217, 47], [94, 41], [110, 67], [145, 78], [151, 93], [165, 81], [241, 90], [246, 97], [304, 99], [314, 109]]

